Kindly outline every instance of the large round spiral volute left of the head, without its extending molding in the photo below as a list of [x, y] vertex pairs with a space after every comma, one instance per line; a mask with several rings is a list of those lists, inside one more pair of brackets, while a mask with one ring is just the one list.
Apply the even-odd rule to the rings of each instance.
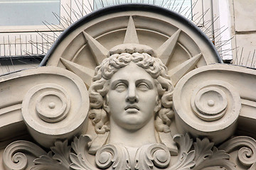
[[82, 130], [89, 97], [80, 77], [68, 70], [46, 67], [36, 72], [39, 83], [26, 92], [21, 113], [36, 142], [52, 147], [55, 140], [71, 139]]

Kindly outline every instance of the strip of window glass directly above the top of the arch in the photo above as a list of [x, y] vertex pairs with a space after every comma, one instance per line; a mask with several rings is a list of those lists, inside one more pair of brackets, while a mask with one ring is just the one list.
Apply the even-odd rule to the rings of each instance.
[[181, 13], [181, 15], [185, 16], [186, 18], [191, 18], [192, 15], [191, 0], [94, 0], [94, 10], [104, 6], [127, 3], [154, 4], [156, 6], [163, 6], [164, 8], [169, 8], [172, 11]]

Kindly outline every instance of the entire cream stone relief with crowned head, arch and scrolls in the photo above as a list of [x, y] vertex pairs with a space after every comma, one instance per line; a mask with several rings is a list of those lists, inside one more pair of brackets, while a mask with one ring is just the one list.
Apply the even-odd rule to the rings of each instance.
[[46, 67], [1, 77], [2, 95], [19, 94], [1, 99], [2, 138], [6, 127], [33, 138], [4, 146], [4, 169], [256, 169], [245, 134], [255, 70], [214, 64], [189, 21], [142, 7], [97, 11], [63, 33]]

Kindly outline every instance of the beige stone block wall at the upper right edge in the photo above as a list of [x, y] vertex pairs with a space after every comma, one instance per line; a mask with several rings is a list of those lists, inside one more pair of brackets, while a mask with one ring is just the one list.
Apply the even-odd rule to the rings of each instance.
[[233, 64], [255, 68], [256, 1], [229, 0]]

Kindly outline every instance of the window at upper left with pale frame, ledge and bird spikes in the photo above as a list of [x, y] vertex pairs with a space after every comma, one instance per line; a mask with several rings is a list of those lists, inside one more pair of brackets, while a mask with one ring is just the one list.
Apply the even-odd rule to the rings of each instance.
[[38, 66], [70, 25], [70, 6], [71, 0], [0, 0], [0, 74]]

